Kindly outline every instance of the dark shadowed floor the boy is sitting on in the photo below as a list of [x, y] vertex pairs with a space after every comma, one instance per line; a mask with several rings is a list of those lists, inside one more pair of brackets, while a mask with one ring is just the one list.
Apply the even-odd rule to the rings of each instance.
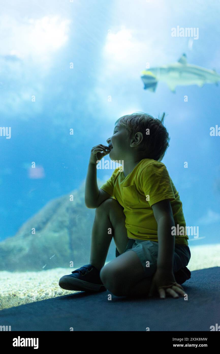
[[220, 325], [220, 267], [195, 270], [182, 286], [187, 301], [78, 292], [2, 310], [0, 325], [12, 331], [210, 331]]

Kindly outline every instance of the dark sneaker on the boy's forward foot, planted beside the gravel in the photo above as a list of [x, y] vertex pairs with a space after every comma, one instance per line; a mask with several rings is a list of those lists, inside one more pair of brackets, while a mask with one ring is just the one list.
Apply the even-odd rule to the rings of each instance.
[[72, 274], [62, 276], [59, 286], [66, 290], [106, 291], [100, 278], [100, 270], [91, 264], [83, 265], [73, 270]]

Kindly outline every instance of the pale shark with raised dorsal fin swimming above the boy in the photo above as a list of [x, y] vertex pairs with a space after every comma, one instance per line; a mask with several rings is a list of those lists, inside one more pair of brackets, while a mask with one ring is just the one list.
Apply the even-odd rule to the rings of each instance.
[[166, 82], [173, 93], [176, 92], [176, 86], [179, 85], [198, 85], [202, 87], [204, 84], [216, 84], [218, 86], [218, 81], [220, 81], [220, 75], [215, 70], [188, 64], [185, 53], [176, 63], [143, 70], [141, 75], [144, 90], [151, 92], [155, 92], [159, 81]]

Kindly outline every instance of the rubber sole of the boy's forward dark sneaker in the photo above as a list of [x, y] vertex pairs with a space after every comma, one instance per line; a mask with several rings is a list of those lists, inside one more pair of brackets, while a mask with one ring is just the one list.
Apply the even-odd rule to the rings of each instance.
[[70, 276], [62, 276], [59, 280], [59, 286], [66, 290], [78, 290], [78, 291], [106, 291], [104, 285], [93, 284], [88, 281], [80, 279], [73, 279]]

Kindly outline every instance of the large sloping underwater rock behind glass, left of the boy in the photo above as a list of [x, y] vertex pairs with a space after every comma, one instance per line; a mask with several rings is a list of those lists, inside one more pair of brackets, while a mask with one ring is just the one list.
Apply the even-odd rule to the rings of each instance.
[[[103, 183], [97, 181], [99, 187]], [[88, 264], [95, 209], [85, 206], [84, 191], [85, 181], [78, 190], [49, 201], [14, 236], [0, 242], [0, 270], [41, 271], [67, 268], [70, 262], [74, 268]]]

